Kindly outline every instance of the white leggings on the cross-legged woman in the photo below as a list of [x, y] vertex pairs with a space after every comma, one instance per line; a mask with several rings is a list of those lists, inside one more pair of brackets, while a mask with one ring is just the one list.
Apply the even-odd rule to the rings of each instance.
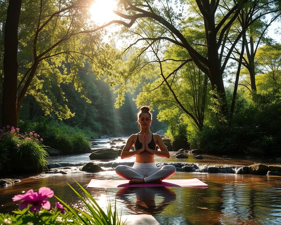
[[[155, 162], [153, 163], [137, 163], [135, 162], [133, 167], [130, 166], [116, 166], [116, 173], [126, 179], [144, 179], [145, 183], [149, 183], [153, 180], [164, 180], [172, 176], [176, 172], [176, 167], [173, 165], [166, 165], [157, 167]], [[143, 176], [147, 176], [143, 178]]]

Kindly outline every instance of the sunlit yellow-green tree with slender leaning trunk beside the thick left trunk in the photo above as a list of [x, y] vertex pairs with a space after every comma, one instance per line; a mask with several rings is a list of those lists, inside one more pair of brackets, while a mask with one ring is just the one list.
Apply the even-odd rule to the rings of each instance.
[[[10, 113], [2, 115], [5, 121], [15, 121], [20, 113], [23, 99], [32, 95], [46, 115], [54, 112], [59, 119], [73, 116], [67, 105], [56, 101], [52, 88], [56, 85], [64, 102], [61, 83], [71, 83], [73, 88], [87, 98], [77, 72], [83, 69], [86, 60], [91, 63], [97, 75], [110, 74], [118, 64], [110, 64], [116, 54], [113, 48], [102, 45], [100, 34], [104, 26], [97, 27], [90, 22], [88, 8], [90, 1], [29, 1], [23, 3], [19, 29], [19, 73], [17, 82], [6, 82], [5, 88], [13, 92], [9, 101]], [[20, 13], [20, 12], [19, 12]], [[19, 16], [20, 14], [18, 14]], [[30, 17], [32, 15], [32, 17]], [[52, 35], [50, 35], [52, 34]], [[110, 51], [109, 57], [105, 52]], [[102, 57], [99, 58], [99, 56]], [[107, 55], [106, 57], [104, 57]], [[107, 61], [107, 63], [105, 63]], [[5, 62], [4, 62], [5, 64]], [[65, 66], [68, 65], [68, 67]], [[4, 65], [6, 67], [6, 65]], [[6, 77], [6, 76], [5, 76]], [[46, 87], [43, 88], [43, 85]], [[44, 91], [43, 91], [44, 90]], [[18, 99], [16, 101], [16, 96]], [[3, 92], [3, 100], [7, 94]], [[11, 106], [12, 105], [12, 106]], [[7, 110], [3, 102], [3, 111]]]

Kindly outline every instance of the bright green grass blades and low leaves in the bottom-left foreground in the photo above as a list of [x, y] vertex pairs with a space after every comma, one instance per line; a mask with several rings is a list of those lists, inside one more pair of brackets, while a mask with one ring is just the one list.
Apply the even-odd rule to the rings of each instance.
[[[77, 208], [72, 208], [68, 204], [66, 204], [59, 197], [54, 195], [54, 197], [59, 200], [65, 207], [61, 212], [61, 209], [58, 207], [51, 208], [50, 210], [41, 209], [39, 212], [34, 211], [30, 212], [30, 207], [26, 207], [23, 210], [17, 209], [13, 211], [13, 214], [3, 214], [0, 213], [0, 223], [1, 224], [27, 224], [27, 225], [43, 225], [43, 224], [97, 224], [97, 225], [123, 225], [124, 222], [121, 222], [121, 218], [118, 217], [117, 209], [116, 209], [116, 201], [115, 207], [112, 209], [110, 201], [108, 201], [107, 212], [104, 212], [102, 208], [97, 204], [97, 202], [93, 199], [93, 197], [85, 190], [78, 182], [76, 182], [78, 186], [82, 190], [82, 194], [85, 197], [77, 192], [71, 185], [71, 189], [74, 193], [80, 198], [82, 202], [84, 202], [86, 211], [82, 211]], [[122, 216], [122, 215], [121, 215]]]

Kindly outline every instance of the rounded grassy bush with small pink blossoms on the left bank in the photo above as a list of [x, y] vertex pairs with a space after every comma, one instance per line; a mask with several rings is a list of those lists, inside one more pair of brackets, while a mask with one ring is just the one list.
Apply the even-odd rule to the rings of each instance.
[[2, 149], [0, 170], [5, 166], [11, 170], [38, 171], [46, 166], [46, 146], [35, 132], [19, 133], [19, 128], [10, 126], [0, 129], [0, 149]]

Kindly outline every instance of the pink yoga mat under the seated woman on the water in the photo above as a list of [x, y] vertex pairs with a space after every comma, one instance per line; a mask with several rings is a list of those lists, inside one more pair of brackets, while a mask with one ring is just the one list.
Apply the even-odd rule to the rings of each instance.
[[128, 180], [96, 180], [92, 179], [87, 186], [93, 187], [208, 187], [197, 178], [182, 179], [182, 180], [163, 180], [161, 184], [143, 183], [143, 184], [129, 184]]

